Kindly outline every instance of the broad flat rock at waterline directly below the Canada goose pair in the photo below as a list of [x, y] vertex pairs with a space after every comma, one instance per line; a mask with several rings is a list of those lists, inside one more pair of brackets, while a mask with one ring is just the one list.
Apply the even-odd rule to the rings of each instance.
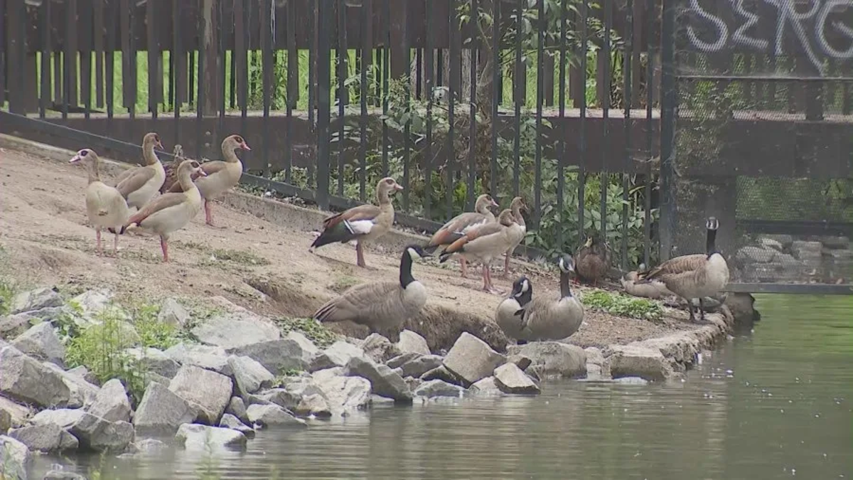
[[577, 345], [561, 342], [530, 342], [508, 348], [509, 360], [525, 356], [532, 360], [525, 370], [539, 378], [586, 376], [586, 353]]

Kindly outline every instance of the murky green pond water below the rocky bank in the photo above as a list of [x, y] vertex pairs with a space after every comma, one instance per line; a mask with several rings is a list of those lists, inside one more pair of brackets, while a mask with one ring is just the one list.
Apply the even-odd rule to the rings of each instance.
[[[375, 407], [261, 431], [245, 453], [79, 458], [103, 478], [853, 477], [853, 301], [765, 296], [683, 382], [546, 383], [538, 397]], [[57, 461], [37, 460], [43, 473]], [[40, 476], [38, 476], [40, 478]]]

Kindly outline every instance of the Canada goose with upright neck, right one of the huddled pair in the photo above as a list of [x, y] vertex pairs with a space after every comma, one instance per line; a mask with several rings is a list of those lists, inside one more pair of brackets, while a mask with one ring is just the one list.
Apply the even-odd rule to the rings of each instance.
[[560, 340], [580, 328], [583, 305], [569, 288], [574, 270], [572, 255], [560, 257], [560, 297], [540, 295], [527, 303], [521, 318], [522, 340]]

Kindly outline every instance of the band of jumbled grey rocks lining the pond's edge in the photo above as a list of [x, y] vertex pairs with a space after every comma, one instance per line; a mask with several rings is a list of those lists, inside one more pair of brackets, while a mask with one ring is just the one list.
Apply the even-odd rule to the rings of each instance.
[[[397, 343], [376, 334], [285, 334], [272, 319], [213, 301], [218, 313], [194, 319], [165, 299], [156, 323], [181, 341], [160, 349], [148, 346], [151, 325], [142, 330], [107, 291], [16, 295], [0, 317], [4, 475], [26, 479], [33, 452], [136, 454], [164, 448], [164, 437], [188, 448], [246, 448], [258, 428], [310, 428], [306, 419], [351, 415], [374, 401], [536, 395], [549, 378], [660, 381], [684, 372], [734, 326], [730, 314], [712, 313], [707, 325], [667, 337], [601, 349], [532, 342], [507, 354], [464, 332], [448, 351], [432, 352], [413, 331]], [[96, 360], [119, 363], [115, 378], [101, 372], [101, 382], [75, 365], [81, 360], [67, 346], [85, 331], [100, 332], [98, 341], [113, 347]]]

